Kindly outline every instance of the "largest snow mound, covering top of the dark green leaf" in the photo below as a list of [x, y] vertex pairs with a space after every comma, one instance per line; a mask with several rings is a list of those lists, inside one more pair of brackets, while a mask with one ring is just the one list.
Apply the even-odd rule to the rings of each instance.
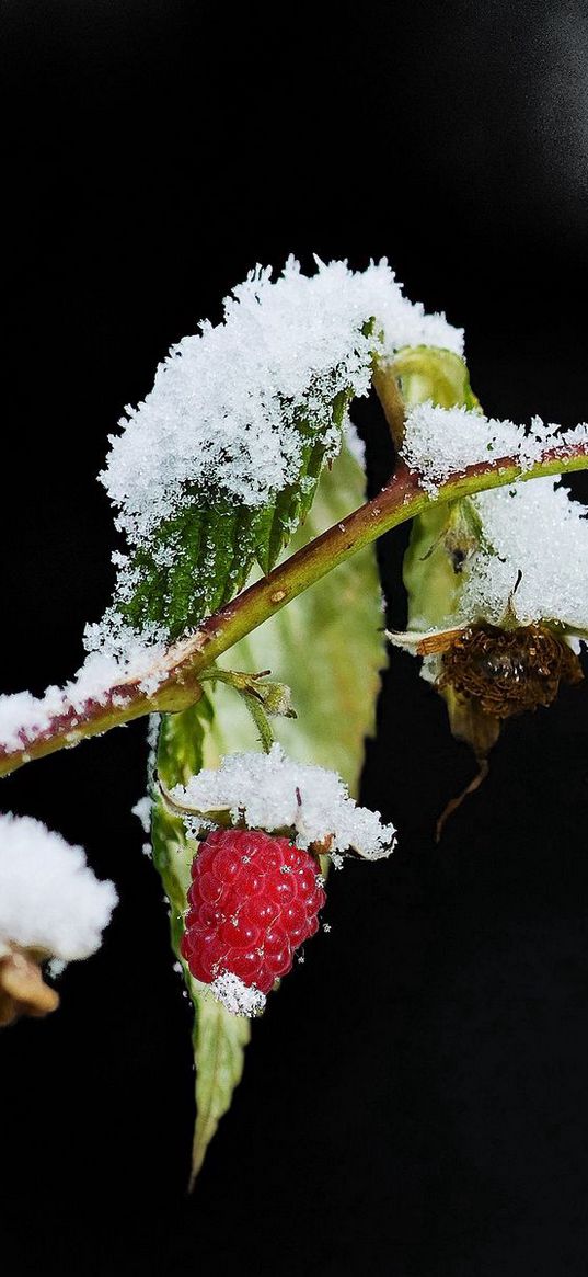
[[223, 322], [172, 346], [144, 402], [126, 409], [101, 479], [131, 544], [189, 499], [187, 485], [265, 504], [296, 478], [301, 416], [334, 455], [330, 404], [367, 393], [375, 349], [462, 350], [462, 332], [412, 305], [385, 261], [316, 264], [307, 277], [291, 258], [276, 282], [258, 267], [224, 300]]

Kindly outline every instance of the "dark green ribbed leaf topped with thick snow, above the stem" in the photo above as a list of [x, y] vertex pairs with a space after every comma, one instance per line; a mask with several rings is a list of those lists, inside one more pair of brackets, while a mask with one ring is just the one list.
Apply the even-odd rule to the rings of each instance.
[[323, 464], [341, 444], [351, 398], [375, 356], [427, 342], [460, 351], [462, 333], [412, 305], [388, 263], [352, 272], [293, 259], [274, 282], [256, 268], [223, 321], [184, 337], [153, 389], [126, 410], [101, 479], [119, 508], [114, 608], [88, 636], [129, 623], [177, 637], [263, 571], [304, 518]]

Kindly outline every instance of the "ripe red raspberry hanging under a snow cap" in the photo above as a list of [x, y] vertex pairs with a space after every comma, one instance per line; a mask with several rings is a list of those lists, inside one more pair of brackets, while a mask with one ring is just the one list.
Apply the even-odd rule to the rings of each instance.
[[309, 852], [260, 829], [217, 829], [191, 866], [182, 955], [196, 979], [223, 972], [261, 994], [292, 967], [325, 903]]

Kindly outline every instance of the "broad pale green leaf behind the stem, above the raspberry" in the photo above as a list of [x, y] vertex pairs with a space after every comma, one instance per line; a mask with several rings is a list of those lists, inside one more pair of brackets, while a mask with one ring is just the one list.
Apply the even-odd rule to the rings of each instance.
[[[364, 470], [344, 446], [323, 472], [304, 529], [288, 553], [339, 522], [365, 499]], [[338, 771], [357, 794], [364, 739], [375, 730], [380, 670], [386, 664], [384, 614], [374, 547], [361, 550], [311, 586], [241, 642], [219, 664], [226, 669], [270, 669], [287, 683], [297, 718], [272, 728], [286, 752], [301, 762]], [[218, 684], [217, 713], [204, 739], [204, 765], [223, 753], [255, 747], [255, 730], [241, 699]]]

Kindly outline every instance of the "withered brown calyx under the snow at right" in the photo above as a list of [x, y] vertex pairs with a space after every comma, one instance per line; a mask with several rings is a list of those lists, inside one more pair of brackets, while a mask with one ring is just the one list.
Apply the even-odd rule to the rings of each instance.
[[547, 626], [468, 626], [443, 653], [437, 687], [453, 687], [483, 714], [506, 719], [551, 705], [560, 683], [582, 678], [578, 656]]

